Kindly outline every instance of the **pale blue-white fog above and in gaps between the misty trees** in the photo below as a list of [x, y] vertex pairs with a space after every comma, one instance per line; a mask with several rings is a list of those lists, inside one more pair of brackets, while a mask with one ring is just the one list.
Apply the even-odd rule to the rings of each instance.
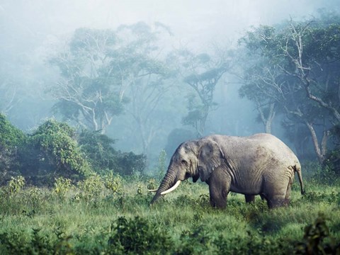
[[[339, 6], [340, 0], [0, 0], [0, 111], [25, 132], [47, 118], [62, 120], [52, 111], [56, 98], [48, 93], [60, 81], [60, 70], [49, 59], [78, 28], [115, 30], [140, 21], [148, 26], [158, 22], [171, 30], [169, 39], [160, 41], [164, 47], [185, 47], [198, 54], [237, 48], [237, 40], [252, 26], [303, 20], [316, 15], [318, 9], [339, 10]], [[254, 103], [239, 97], [239, 86], [232, 73], [218, 81], [216, 106], [208, 115], [203, 135], [264, 132], [256, 120]], [[162, 111], [153, 111], [143, 127], [148, 145], [142, 145], [136, 118], [131, 117], [133, 101], [113, 118], [106, 135], [117, 140], [117, 149], [146, 153], [150, 161], [157, 161], [166, 146], [171, 154], [174, 145], [169, 145], [169, 139], [174, 138], [168, 137], [172, 130], [195, 131], [182, 121], [188, 113], [187, 96], [185, 90], [175, 89], [159, 98], [155, 108]], [[139, 117], [143, 116], [149, 115], [141, 113]], [[273, 123], [272, 132], [289, 143], [280, 120]]]

